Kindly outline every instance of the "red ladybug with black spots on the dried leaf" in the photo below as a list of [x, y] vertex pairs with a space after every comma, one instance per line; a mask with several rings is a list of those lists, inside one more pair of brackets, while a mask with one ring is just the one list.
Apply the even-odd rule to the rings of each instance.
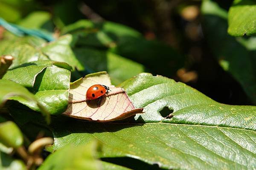
[[111, 91], [108, 86], [105, 85], [92, 85], [90, 88], [88, 88], [86, 92], [86, 99], [87, 100], [93, 100], [97, 99], [104, 94], [108, 93], [108, 91]]

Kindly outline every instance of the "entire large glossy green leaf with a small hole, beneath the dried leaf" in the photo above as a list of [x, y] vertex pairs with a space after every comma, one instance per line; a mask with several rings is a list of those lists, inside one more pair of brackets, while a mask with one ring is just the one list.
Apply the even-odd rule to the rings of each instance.
[[[121, 87], [145, 113], [126, 123], [56, 121], [51, 150], [98, 139], [103, 158], [131, 157], [166, 169], [252, 169], [256, 164], [256, 106], [224, 105], [183, 83], [146, 73]], [[172, 117], [161, 115], [165, 107], [173, 110]]]

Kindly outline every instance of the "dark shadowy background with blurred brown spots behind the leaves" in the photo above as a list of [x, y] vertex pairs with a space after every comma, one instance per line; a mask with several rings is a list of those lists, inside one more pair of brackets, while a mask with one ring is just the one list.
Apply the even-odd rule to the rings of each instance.
[[[233, 1], [216, 2], [221, 8], [228, 10]], [[159, 58], [150, 60], [146, 57], [146, 49], [140, 53], [140, 56], [145, 57], [133, 57], [131, 54], [125, 56], [125, 52], [121, 53], [123, 57], [140, 62], [153, 74], [185, 82], [218, 102], [233, 105], [253, 104], [239, 82], [221, 68], [219, 59], [214, 56], [214, 51], [219, 49], [212, 47], [209, 42], [212, 40], [207, 37], [204, 16], [200, 12], [201, 3], [200, 0], [36, 0], [9, 4], [19, 9], [20, 18], [32, 11], [49, 11], [53, 16], [55, 31], [86, 18], [130, 26], [140, 31], [147, 40], [164, 42], [182, 57], [179, 63], [172, 62], [172, 57], [167, 56], [168, 52], [163, 52], [162, 55], [159, 54]], [[8, 20], [8, 17], [6, 19]], [[47, 26], [47, 29], [49, 28], [53, 30], [54, 26]], [[218, 32], [219, 29], [217, 27], [215, 31]], [[169, 65], [163, 65], [164, 62], [172, 62], [171, 69]], [[161, 67], [165, 69], [158, 69]]]

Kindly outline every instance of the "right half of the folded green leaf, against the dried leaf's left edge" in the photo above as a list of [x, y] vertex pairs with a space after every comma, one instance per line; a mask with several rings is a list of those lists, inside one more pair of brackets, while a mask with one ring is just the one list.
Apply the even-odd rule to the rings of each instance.
[[[29, 90], [35, 94], [36, 99], [47, 108], [49, 113], [60, 114], [67, 108], [69, 82], [70, 71], [63, 68], [47, 67], [42, 74], [37, 76], [34, 87]], [[12, 99], [18, 100], [35, 111], [40, 111], [33, 102], [20, 97]]]

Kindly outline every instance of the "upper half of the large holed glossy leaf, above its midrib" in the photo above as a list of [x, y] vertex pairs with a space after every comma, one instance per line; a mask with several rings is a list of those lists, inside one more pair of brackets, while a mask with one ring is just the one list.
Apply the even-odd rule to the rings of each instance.
[[[139, 74], [122, 85], [136, 108], [138, 122], [166, 122], [256, 130], [256, 106], [224, 105], [199, 91], [162, 76]], [[165, 107], [172, 119], [160, 114]], [[204, 119], [202, 119], [204, 118]]]

